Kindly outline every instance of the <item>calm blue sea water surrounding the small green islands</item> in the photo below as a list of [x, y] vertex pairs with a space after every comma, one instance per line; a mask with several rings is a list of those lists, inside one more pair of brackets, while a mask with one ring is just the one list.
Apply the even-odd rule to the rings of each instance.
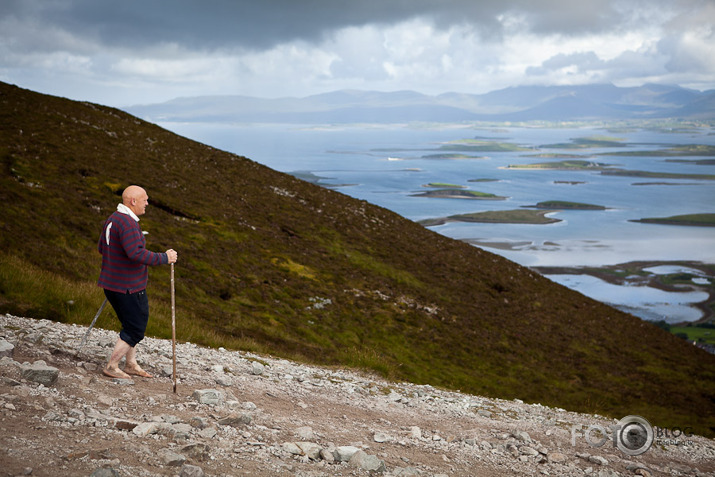
[[[512, 164], [561, 160], [537, 153], [576, 154], [583, 159], [628, 170], [715, 174], [698, 157], [599, 155], [650, 151], [681, 144], [715, 145], [709, 128], [687, 132], [646, 129], [608, 132], [583, 128], [475, 128], [466, 125], [258, 125], [162, 123], [163, 127], [214, 147], [246, 156], [275, 170], [311, 177], [319, 184], [390, 209], [415, 221], [488, 210], [512, 210], [537, 202], [562, 200], [602, 205], [606, 210], [553, 212], [550, 225], [450, 222], [438, 233], [503, 255], [525, 266], [605, 266], [631, 261], [692, 260], [715, 263], [715, 228], [632, 222], [648, 217], [715, 212], [715, 181], [607, 176], [599, 171], [508, 169]], [[622, 146], [588, 149], [544, 148], [575, 138], [617, 137]], [[428, 156], [440, 146], [463, 139], [514, 143], [533, 151], [465, 152], [469, 159]], [[537, 151], [538, 149], [538, 151]], [[712, 159], [712, 158], [711, 158]], [[673, 160], [680, 160], [674, 162]], [[685, 160], [686, 162], [683, 162]], [[301, 175], [302, 174], [302, 175]], [[310, 175], [306, 175], [310, 174]], [[489, 182], [474, 182], [489, 179]], [[506, 200], [415, 197], [430, 183], [449, 183], [506, 197]], [[649, 185], [639, 185], [648, 183]], [[693, 321], [701, 313], [689, 306], [693, 296], [671, 293], [641, 296], [633, 289], [599, 284], [586, 275], [552, 277], [593, 298], [619, 296], [623, 308], [641, 310], [647, 319]], [[632, 288], [632, 287], [631, 287]], [[643, 288], [643, 287], [641, 287]], [[650, 293], [650, 292], [648, 292]], [[665, 292], [663, 292], [665, 293]], [[700, 295], [695, 296], [701, 298]], [[679, 305], [646, 310], [648, 303]]]

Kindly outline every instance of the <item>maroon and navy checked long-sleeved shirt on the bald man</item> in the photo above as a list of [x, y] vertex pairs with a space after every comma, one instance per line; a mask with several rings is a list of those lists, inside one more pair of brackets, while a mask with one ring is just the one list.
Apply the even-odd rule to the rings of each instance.
[[98, 248], [102, 254], [102, 270], [97, 284], [119, 293], [144, 290], [149, 279], [147, 265], [169, 263], [165, 253], [146, 249], [139, 223], [121, 212], [114, 212], [104, 223]]

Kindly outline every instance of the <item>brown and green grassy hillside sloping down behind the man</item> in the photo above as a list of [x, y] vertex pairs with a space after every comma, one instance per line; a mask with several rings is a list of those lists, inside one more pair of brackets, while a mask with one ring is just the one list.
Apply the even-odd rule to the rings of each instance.
[[[88, 324], [99, 232], [134, 183], [148, 247], [180, 254], [180, 340], [713, 435], [715, 356], [636, 317], [116, 109], [0, 83], [0, 116], [1, 312]], [[169, 337], [168, 267], [149, 294]]]

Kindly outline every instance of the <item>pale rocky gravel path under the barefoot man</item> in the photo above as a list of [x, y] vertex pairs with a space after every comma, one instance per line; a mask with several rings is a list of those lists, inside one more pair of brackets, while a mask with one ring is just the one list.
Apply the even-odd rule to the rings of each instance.
[[139, 345], [156, 378], [113, 380], [116, 333], [78, 355], [85, 332], [0, 315], [0, 475], [715, 475], [712, 439], [629, 456], [589, 445], [602, 416], [190, 343], [174, 394], [170, 341]]

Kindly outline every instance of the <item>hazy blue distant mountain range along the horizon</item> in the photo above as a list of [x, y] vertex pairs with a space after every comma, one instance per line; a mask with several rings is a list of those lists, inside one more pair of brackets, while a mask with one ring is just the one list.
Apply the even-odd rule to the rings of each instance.
[[715, 90], [647, 84], [620, 88], [519, 86], [486, 94], [341, 90], [305, 98], [198, 96], [125, 108], [161, 121], [259, 123], [405, 123], [715, 119]]

